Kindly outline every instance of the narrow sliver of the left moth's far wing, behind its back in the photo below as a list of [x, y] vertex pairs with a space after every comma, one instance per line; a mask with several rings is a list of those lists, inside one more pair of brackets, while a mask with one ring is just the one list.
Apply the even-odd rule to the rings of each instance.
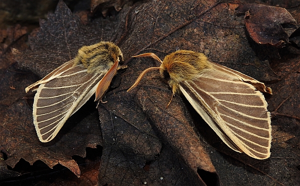
[[60, 66], [58, 66], [57, 68], [55, 68], [53, 71], [51, 71], [50, 73], [48, 73], [46, 76], [44, 76], [42, 79], [30, 84], [29, 86], [27, 86], [25, 88], [25, 91], [26, 93], [32, 89], [33, 90], [36, 90], [37, 86], [39, 84], [42, 84], [42, 83], [46, 83], [48, 82], [49, 80], [59, 76], [60, 74], [64, 73], [65, 71], [67, 71], [70, 67], [72, 67], [74, 64], [74, 59], [71, 59], [63, 64], [61, 64]]

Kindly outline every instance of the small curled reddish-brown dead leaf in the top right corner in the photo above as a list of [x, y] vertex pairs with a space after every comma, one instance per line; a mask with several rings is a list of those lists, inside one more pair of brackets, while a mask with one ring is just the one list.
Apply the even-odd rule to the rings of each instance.
[[299, 27], [285, 8], [253, 3], [241, 4], [236, 10], [244, 13], [247, 31], [259, 44], [283, 47], [290, 34]]

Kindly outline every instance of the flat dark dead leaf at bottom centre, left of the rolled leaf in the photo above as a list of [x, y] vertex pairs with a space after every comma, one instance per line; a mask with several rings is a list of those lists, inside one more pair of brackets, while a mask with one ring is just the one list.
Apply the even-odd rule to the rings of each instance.
[[[159, 140], [159, 131], [149, 123], [134, 96], [128, 95], [122, 87], [115, 94], [119, 99], [106, 95], [107, 103], [98, 108], [104, 142], [99, 185], [138, 185], [143, 182], [149, 185], [203, 185], [195, 171], [199, 165], [191, 172], [192, 161], [191, 165], [186, 165], [181, 162], [184, 157], [174, 155], [169, 144], [161, 144], [161, 141], [167, 140]], [[191, 156], [194, 153], [196, 150]], [[144, 166], [148, 166], [149, 170], [144, 170]], [[213, 178], [218, 180], [216, 174]]]

